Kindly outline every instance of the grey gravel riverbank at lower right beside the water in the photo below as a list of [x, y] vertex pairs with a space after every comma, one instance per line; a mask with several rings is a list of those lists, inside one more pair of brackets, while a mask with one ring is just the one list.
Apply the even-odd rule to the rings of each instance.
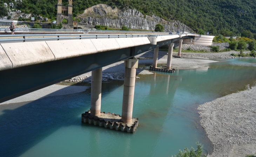
[[209, 157], [256, 155], [256, 86], [206, 102], [198, 110], [214, 144]]

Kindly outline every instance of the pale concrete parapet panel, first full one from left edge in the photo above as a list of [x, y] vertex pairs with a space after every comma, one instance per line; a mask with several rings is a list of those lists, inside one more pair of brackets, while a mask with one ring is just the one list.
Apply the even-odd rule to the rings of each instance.
[[53, 61], [55, 59], [46, 42], [2, 43], [2, 48], [13, 68]]

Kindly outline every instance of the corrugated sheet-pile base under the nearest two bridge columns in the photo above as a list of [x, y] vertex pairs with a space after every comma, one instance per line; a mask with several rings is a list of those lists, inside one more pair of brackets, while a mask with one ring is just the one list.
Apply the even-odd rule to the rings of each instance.
[[90, 110], [88, 112], [82, 113], [82, 122], [98, 125], [100, 127], [116, 129], [121, 131], [127, 131], [127, 133], [134, 133], [138, 127], [138, 119], [133, 118], [132, 123], [127, 124], [121, 122], [122, 116], [118, 114], [110, 114], [110, 112], [101, 112], [99, 116], [90, 115]]

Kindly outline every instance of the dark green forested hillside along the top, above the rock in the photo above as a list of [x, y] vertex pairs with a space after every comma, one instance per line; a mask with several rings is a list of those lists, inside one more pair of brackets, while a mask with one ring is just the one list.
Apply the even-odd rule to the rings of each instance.
[[[67, 4], [68, 0], [62, 0]], [[13, 2], [22, 12], [54, 17], [57, 0], [1, 0]], [[105, 3], [119, 8], [135, 8], [143, 14], [179, 20], [193, 30], [202, 28], [212, 34], [237, 35], [243, 30], [256, 33], [255, 0], [73, 0], [73, 14], [86, 8]]]

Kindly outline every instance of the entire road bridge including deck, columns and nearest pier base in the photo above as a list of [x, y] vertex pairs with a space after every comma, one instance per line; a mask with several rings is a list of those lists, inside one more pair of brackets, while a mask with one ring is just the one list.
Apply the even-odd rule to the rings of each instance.
[[[169, 45], [167, 68], [171, 70], [173, 42], [211, 45], [214, 36], [182, 35], [106, 35], [72, 34], [41, 35], [47, 38], [26, 38], [29, 35], [0, 36], [0, 103], [92, 71], [91, 108], [82, 115], [83, 122], [134, 132], [132, 119], [135, 74], [138, 59], [134, 56], [154, 49], [153, 69], [157, 69], [159, 47]], [[20, 38], [19, 38], [20, 37]], [[29, 39], [29, 40], [28, 40]], [[16, 43], [13, 43], [16, 42]], [[118, 122], [99, 119], [101, 115], [102, 67], [124, 60], [125, 77], [122, 116]], [[103, 113], [102, 113], [103, 114]], [[104, 113], [105, 114], [105, 113]], [[95, 119], [95, 116], [97, 117]], [[94, 117], [94, 118], [92, 118]]]

